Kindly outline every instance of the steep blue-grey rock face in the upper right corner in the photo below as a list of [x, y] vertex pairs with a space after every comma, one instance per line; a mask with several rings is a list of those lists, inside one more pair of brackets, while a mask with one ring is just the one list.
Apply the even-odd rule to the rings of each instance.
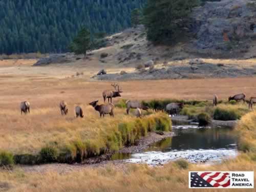
[[227, 42], [256, 35], [256, 4], [250, 0], [206, 2], [194, 8], [190, 30], [197, 49], [228, 49]]

